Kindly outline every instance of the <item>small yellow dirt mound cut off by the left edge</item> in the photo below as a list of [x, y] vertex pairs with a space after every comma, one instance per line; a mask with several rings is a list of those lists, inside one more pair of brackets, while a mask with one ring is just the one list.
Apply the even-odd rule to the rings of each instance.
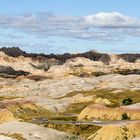
[[0, 123], [16, 120], [13, 114], [7, 109], [0, 110]]

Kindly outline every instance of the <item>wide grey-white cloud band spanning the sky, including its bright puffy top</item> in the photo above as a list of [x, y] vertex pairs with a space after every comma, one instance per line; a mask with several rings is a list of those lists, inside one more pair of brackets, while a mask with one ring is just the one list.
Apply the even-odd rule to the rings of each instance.
[[53, 13], [19, 16], [1, 14], [0, 28], [20, 30], [43, 38], [57, 36], [118, 41], [125, 35], [140, 37], [140, 19], [117, 12], [102, 12], [81, 17], [60, 16]]

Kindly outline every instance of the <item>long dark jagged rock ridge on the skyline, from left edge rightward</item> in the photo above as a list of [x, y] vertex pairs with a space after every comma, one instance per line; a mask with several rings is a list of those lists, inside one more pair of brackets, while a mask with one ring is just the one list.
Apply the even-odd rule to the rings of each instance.
[[44, 58], [48, 59], [56, 59], [59, 61], [59, 64], [64, 64], [66, 60], [75, 58], [75, 57], [85, 57], [93, 61], [102, 61], [105, 64], [109, 64], [110, 61], [110, 56], [105, 53], [98, 53], [95, 51], [89, 51], [86, 53], [77, 53], [77, 54], [69, 54], [69, 53], [64, 53], [62, 55], [57, 55], [57, 54], [36, 54], [36, 53], [26, 53], [25, 51], [22, 51], [18, 47], [12, 47], [12, 48], [6, 48], [3, 47], [0, 49], [0, 51], [3, 51], [5, 54], [12, 56], [12, 57], [18, 57], [18, 56], [24, 56], [24, 57], [31, 57], [33, 59], [38, 59], [38, 60], [43, 60]]

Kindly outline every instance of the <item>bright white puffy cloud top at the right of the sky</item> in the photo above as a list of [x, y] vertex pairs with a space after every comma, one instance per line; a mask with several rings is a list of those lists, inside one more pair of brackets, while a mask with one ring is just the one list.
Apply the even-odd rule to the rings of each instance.
[[140, 20], [125, 16], [123, 14], [113, 13], [98, 13], [84, 17], [87, 25], [91, 27], [104, 28], [140, 28]]

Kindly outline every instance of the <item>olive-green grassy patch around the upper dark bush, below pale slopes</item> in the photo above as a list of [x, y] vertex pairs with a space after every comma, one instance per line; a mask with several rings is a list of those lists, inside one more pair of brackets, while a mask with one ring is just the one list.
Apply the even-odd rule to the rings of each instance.
[[90, 91], [75, 91], [68, 93], [66, 96], [61, 97], [61, 98], [66, 98], [66, 97], [73, 97], [77, 94], [83, 94], [85, 97], [86, 96], [94, 96], [93, 101], [90, 102], [81, 102], [81, 103], [73, 103], [71, 104], [67, 111], [64, 112], [65, 114], [67, 113], [80, 113], [85, 107], [94, 104], [94, 101], [101, 97], [103, 99], [108, 99], [110, 102], [112, 102], [112, 105], [108, 105], [109, 107], [119, 107], [122, 105], [122, 101], [126, 98], [131, 98], [133, 103], [138, 103], [140, 102], [140, 91], [122, 91], [120, 93], [112, 93], [110, 90], [90, 90]]

